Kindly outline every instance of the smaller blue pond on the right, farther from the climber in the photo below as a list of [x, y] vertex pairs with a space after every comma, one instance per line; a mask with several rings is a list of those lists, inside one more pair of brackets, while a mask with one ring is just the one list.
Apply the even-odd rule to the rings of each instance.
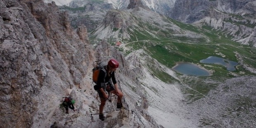
[[208, 57], [207, 59], [202, 59], [200, 60], [201, 63], [206, 63], [206, 64], [219, 64], [223, 65], [227, 68], [228, 71], [235, 71], [236, 68], [235, 66], [238, 65], [237, 62], [230, 61], [228, 59], [223, 59], [220, 57]]

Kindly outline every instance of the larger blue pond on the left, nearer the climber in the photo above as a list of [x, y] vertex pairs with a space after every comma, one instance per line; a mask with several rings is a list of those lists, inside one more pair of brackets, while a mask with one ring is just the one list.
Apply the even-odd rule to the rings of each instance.
[[179, 73], [193, 75], [193, 76], [210, 76], [211, 75], [211, 73], [208, 70], [198, 66], [197, 64], [187, 63], [187, 62], [179, 62], [172, 69]]

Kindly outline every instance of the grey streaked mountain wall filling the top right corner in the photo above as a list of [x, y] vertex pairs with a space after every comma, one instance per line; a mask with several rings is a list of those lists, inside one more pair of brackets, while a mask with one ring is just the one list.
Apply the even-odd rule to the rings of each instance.
[[255, 14], [255, 0], [177, 0], [168, 16], [197, 26], [212, 26], [234, 41], [256, 47]]

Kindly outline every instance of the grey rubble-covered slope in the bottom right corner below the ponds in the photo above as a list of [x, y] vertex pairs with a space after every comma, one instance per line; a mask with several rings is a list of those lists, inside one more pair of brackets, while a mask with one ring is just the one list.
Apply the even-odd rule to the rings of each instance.
[[[232, 78], [220, 84], [204, 98], [191, 104], [190, 110], [199, 127], [254, 128], [255, 77]], [[225, 105], [223, 105], [225, 104]]]

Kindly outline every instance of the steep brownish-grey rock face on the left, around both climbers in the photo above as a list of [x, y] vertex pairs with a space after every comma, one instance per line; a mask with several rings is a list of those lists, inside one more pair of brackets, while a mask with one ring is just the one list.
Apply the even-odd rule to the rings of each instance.
[[[123, 55], [104, 41], [93, 51], [87, 40], [86, 27], [73, 31], [68, 14], [54, 2], [0, 0], [1, 128], [160, 127], [147, 113], [142, 88], [131, 91], [131, 85], [140, 84]], [[116, 77], [120, 90], [126, 90], [126, 109], [106, 114], [102, 123], [90, 115], [98, 111], [90, 79], [94, 57], [119, 61]], [[68, 115], [59, 108], [64, 96], [76, 99], [76, 112]]]

